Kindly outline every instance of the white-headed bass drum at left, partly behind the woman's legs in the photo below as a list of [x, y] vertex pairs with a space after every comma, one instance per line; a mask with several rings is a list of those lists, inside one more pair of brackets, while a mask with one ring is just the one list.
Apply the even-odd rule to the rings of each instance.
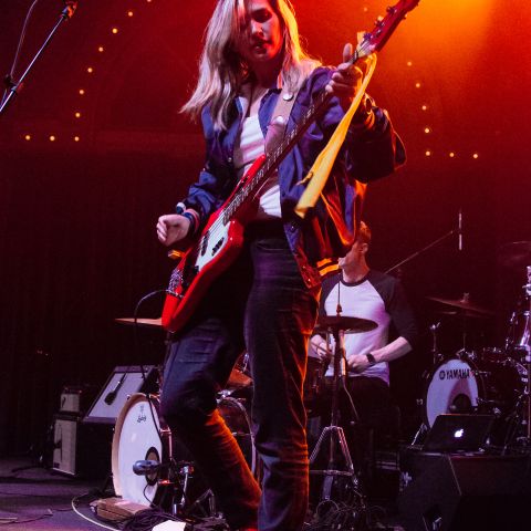
[[[236, 437], [249, 468], [259, 479], [258, 454], [244, 400], [223, 397], [218, 400], [218, 409]], [[159, 471], [147, 476], [134, 473], [133, 465], [145, 459], [162, 464]], [[170, 464], [183, 467], [192, 462], [191, 454], [173, 436], [162, 419], [158, 396], [140, 393], [131, 395], [118, 415], [113, 437], [112, 469], [116, 496], [147, 507], [164, 507], [171, 498], [171, 485], [165, 485]], [[192, 503], [207, 489], [200, 473], [194, 473], [187, 487], [187, 500]]]

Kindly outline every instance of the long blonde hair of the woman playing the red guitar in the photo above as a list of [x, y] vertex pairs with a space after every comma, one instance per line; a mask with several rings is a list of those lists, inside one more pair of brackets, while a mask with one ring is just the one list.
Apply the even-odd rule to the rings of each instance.
[[[199, 60], [199, 79], [191, 97], [180, 110], [197, 118], [206, 104], [210, 104], [214, 124], [219, 129], [229, 125], [229, 108], [249, 69], [237, 52], [240, 37], [239, 13], [246, 0], [218, 0], [205, 34], [205, 46]], [[319, 61], [303, 50], [294, 9], [290, 0], [269, 0], [283, 30], [282, 83], [290, 91], [300, 88]]]

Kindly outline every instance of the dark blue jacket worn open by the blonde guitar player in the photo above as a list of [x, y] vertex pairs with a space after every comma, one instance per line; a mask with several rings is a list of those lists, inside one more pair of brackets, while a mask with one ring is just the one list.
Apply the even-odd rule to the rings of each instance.
[[[287, 125], [289, 133], [302, 119], [312, 100], [330, 81], [333, 70], [315, 69], [299, 91]], [[260, 102], [259, 122], [266, 137], [281, 88], [271, 87]], [[322, 191], [322, 198], [304, 219], [293, 211], [305, 185], [313, 162], [325, 147], [344, 111], [336, 97], [326, 111], [304, 133], [299, 143], [279, 166], [279, 188], [282, 220], [290, 248], [308, 288], [321, 284], [319, 266], [346, 254], [354, 240], [361, 216], [356, 180], [368, 183], [384, 177], [405, 162], [405, 150], [394, 133], [387, 113], [373, 105], [375, 123], [368, 131], [351, 126], [334, 168]], [[222, 206], [237, 184], [233, 164], [235, 145], [244, 110], [235, 98], [227, 131], [215, 128], [208, 106], [201, 113], [207, 155], [199, 179], [190, 186], [183, 202], [194, 208], [202, 227], [208, 217]]]

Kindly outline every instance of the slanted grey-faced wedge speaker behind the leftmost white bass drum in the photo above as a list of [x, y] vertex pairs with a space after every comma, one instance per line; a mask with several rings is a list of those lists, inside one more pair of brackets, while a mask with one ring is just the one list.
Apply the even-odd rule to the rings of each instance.
[[158, 392], [157, 377], [158, 371], [154, 365], [115, 367], [83, 423], [116, 424], [128, 396]]

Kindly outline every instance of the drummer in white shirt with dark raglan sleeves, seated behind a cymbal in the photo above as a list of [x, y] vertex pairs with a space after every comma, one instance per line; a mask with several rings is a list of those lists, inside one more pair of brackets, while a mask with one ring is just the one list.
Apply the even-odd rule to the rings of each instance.
[[[350, 444], [355, 460], [362, 459], [364, 454], [360, 447], [363, 446], [360, 445], [360, 435], [366, 434], [368, 428], [374, 428], [382, 435], [392, 429], [394, 400], [389, 392], [388, 362], [412, 351], [418, 335], [414, 313], [400, 282], [368, 267], [366, 254], [369, 244], [371, 230], [362, 221], [352, 249], [340, 259], [340, 274], [323, 283], [320, 306], [321, 316], [336, 315], [340, 305], [341, 316], [368, 319], [377, 324], [368, 332], [344, 334], [346, 388], [360, 417], [355, 424], [362, 431], [351, 434], [356, 435], [354, 444]], [[392, 337], [395, 339], [389, 341]], [[326, 347], [323, 335], [312, 336], [310, 355], [327, 361], [332, 352], [333, 345]], [[332, 366], [330, 364], [326, 376], [332, 376]], [[356, 418], [346, 410], [348, 408], [341, 412], [343, 417], [347, 416], [342, 424], [351, 425]], [[323, 420], [326, 421], [326, 416]], [[352, 441], [348, 430], [346, 436]]]

